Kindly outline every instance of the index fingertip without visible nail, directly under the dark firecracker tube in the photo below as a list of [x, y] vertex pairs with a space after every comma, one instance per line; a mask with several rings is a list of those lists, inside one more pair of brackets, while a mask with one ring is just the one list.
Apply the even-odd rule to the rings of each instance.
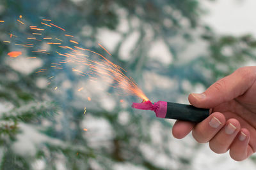
[[183, 120], [177, 120], [172, 128], [172, 134], [174, 138], [182, 139], [192, 131], [195, 123], [187, 122]]

